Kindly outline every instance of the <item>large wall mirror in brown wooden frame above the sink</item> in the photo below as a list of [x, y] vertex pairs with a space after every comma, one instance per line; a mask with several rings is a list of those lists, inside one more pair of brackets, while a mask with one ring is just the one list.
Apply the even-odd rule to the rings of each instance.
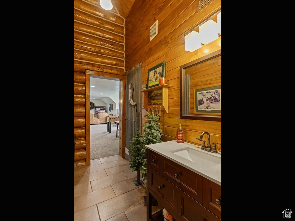
[[221, 121], [221, 49], [180, 66], [180, 118]]

